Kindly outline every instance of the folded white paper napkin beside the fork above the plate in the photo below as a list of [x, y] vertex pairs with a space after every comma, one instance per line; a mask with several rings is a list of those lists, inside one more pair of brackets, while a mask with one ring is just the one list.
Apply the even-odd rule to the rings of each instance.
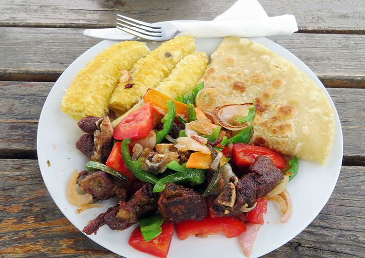
[[171, 22], [180, 35], [199, 37], [266, 37], [298, 30], [293, 15], [268, 17], [257, 0], [238, 0], [212, 21]]

